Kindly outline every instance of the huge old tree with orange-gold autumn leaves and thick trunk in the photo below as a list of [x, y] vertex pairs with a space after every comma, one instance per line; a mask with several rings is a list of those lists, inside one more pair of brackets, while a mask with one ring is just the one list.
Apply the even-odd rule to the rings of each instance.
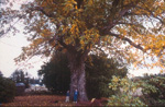
[[4, 14], [23, 19], [31, 35], [28, 39], [32, 44], [23, 48], [16, 61], [35, 55], [51, 56], [56, 50], [67, 52], [70, 95], [77, 88], [79, 100], [88, 100], [85, 60], [94, 48], [105, 46], [102, 50], [109, 50], [111, 57], [128, 62], [136, 60], [136, 63], [144, 60], [139, 56], [143, 52], [156, 55], [160, 62], [153, 66], [162, 66], [164, 10], [164, 0], [33, 0], [21, 10], [8, 9]]

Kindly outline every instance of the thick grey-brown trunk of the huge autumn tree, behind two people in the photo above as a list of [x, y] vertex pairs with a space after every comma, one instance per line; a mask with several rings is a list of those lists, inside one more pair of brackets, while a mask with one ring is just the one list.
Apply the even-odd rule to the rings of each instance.
[[86, 73], [85, 73], [85, 56], [78, 54], [69, 54], [69, 68], [72, 72], [70, 76], [70, 99], [74, 99], [75, 90], [78, 91], [78, 100], [88, 100], [86, 94]]

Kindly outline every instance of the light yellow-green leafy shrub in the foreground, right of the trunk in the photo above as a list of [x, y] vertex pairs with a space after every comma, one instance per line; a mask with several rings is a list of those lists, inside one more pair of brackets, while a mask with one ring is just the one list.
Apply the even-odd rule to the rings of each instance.
[[113, 76], [109, 87], [117, 92], [122, 90], [122, 92], [109, 97], [108, 106], [146, 106], [139, 97], [130, 94], [140, 87], [139, 83], [134, 83], [128, 78], [120, 79], [119, 76]]

